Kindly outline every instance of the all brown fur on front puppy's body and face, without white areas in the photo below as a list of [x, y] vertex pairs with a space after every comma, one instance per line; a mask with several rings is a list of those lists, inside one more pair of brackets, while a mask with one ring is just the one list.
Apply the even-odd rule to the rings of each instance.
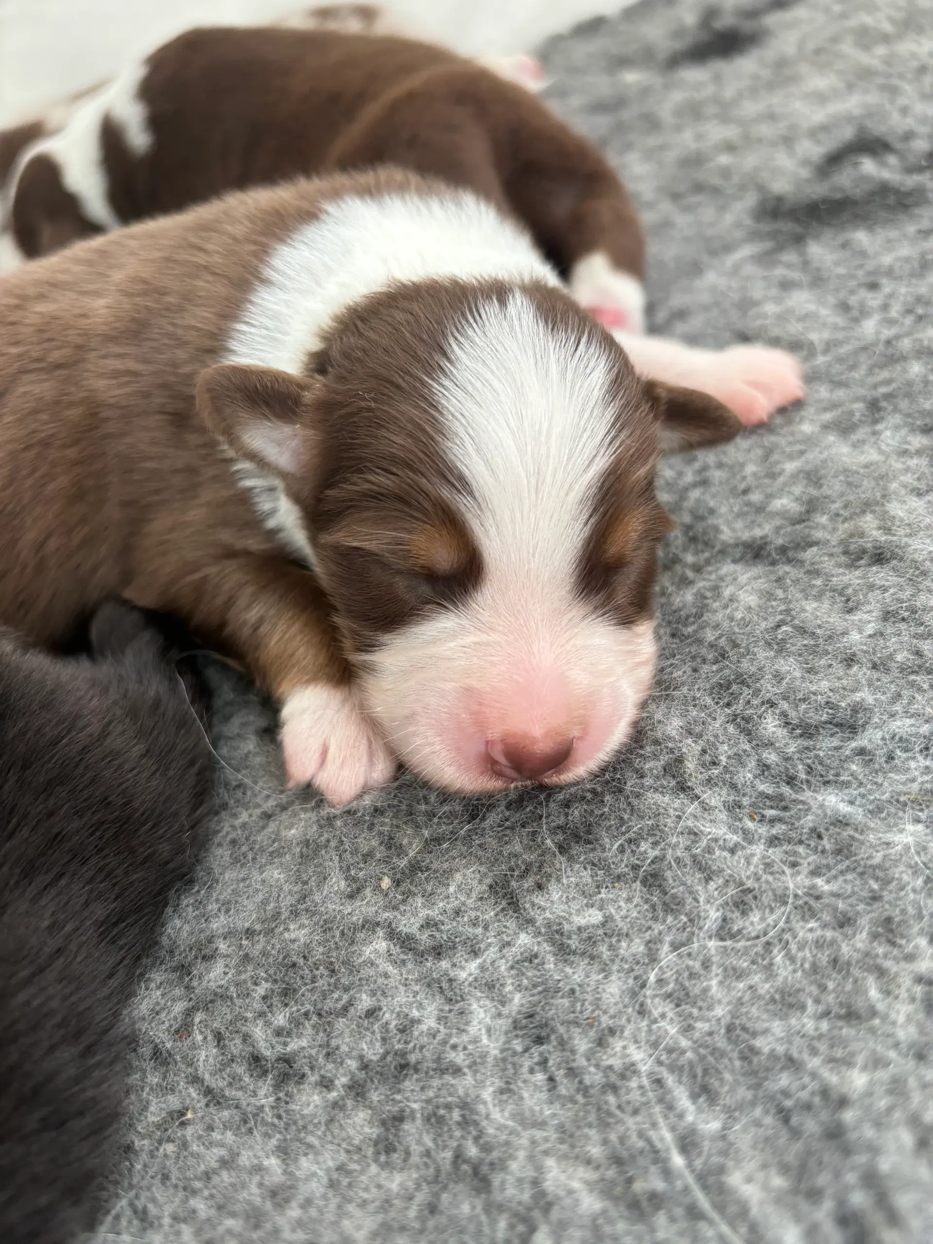
[[[469, 593], [481, 565], [455, 504], [469, 485], [442, 449], [433, 381], [450, 325], [508, 285], [372, 294], [299, 376], [220, 363], [271, 249], [328, 198], [388, 192], [450, 193], [398, 170], [296, 182], [87, 241], [0, 284], [0, 622], [58, 644], [121, 593], [177, 615], [281, 698], [346, 682], [347, 658]], [[626, 435], [580, 590], [620, 620], [643, 617], [664, 530], [653, 474], [666, 391], [648, 396], [567, 295], [526, 290], [545, 320], [616, 357]], [[317, 576], [261, 525], [218, 444], [253, 453], [250, 420], [295, 450], [285, 483], [315, 532]], [[606, 532], [629, 513], [624, 578]]]

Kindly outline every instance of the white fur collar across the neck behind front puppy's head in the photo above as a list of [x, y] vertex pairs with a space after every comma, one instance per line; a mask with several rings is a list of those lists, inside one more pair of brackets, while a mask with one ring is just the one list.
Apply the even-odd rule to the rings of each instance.
[[351, 302], [394, 281], [443, 276], [560, 285], [529, 234], [475, 194], [351, 195], [276, 248], [226, 358], [300, 372]]

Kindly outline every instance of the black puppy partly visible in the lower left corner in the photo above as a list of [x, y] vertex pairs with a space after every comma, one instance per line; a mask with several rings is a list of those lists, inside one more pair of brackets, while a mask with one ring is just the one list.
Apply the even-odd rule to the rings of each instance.
[[124, 1011], [192, 871], [210, 749], [160, 634], [124, 605], [95, 659], [0, 631], [0, 1239], [90, 1230], [117, 1157]]

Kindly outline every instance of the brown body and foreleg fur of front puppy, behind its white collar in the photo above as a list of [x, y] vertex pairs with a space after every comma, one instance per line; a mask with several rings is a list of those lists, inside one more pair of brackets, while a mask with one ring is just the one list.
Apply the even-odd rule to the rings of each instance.
[[220, 357], [269, 249], [316, 204], [310, 188], [239, 211], [218, 203], [2, 281], [5, 624], [55, 646], [121, 592], [249, 653], [275, 694], [343, 677], [313, 577], [256, 522], [194, 409], [195, 378]]

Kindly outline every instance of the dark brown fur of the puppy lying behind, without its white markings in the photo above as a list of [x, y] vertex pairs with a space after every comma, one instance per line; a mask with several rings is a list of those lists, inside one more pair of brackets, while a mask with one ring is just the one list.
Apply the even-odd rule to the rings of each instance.
[[[299, 174], [398, 164], [524, 220], [561, 271], [603, 250], [641, 277], [641, 226], [612, 168], [522, 87], [443, 47], [336, 30], [204, 29], [149, 57], [141, 98], [156, 142], [134, 156], [106, 121], [109, 199], [124, 221]], [[61, 195], [24, 175], [26, 255], [65, 243]], [[56, 230], [40, 228], [55, 210]], [[77, 208], [73, 236], [88, 231]]]

